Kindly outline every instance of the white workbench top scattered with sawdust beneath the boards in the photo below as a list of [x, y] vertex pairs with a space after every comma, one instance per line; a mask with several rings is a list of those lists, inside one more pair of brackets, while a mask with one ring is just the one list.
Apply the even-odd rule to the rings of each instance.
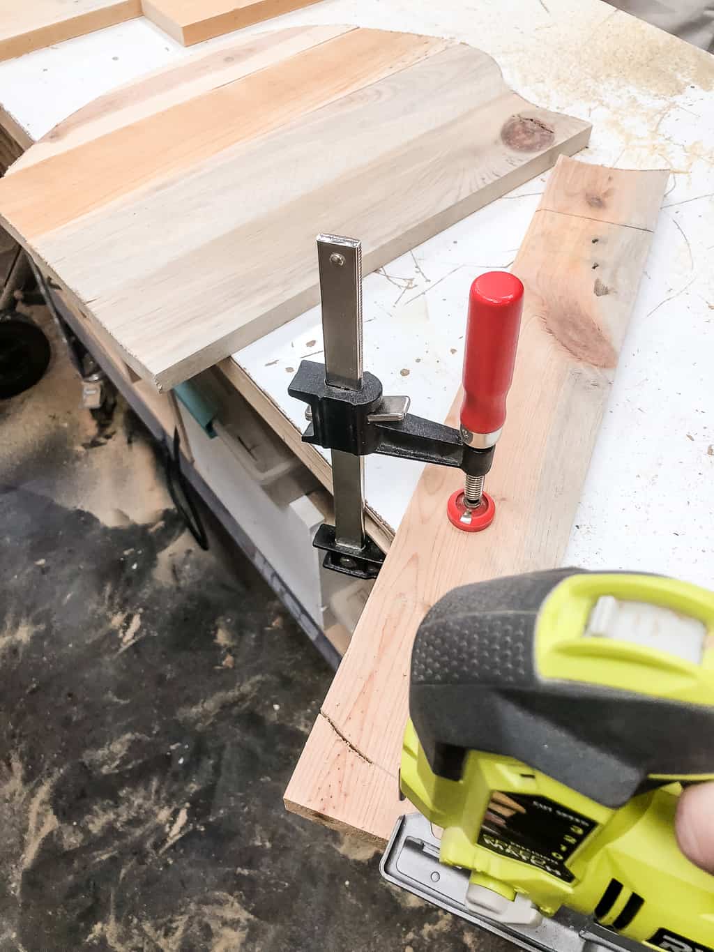
[[[592, 122], [580, 158], [672, 169], [565, 562], [712, 585], [714, 60], [600, 0], [324, 0], [249, 31], [299, 23], [464, 40], [493, 55], [526, 98]], [[190, 51], [135, 20], [0, 64], [0, 106], [37, 139], [101, 93]], [[386, 393], [408, 393], [413, 412], [446, 416], [467, 288], [513, 260], [544, 183], [527, 183], [365, 280], [365, 366]], [[310, 354], [320, 360], [320, 349], [315, 309], [235, 360], [302, 427], [289, 368]], [[391, 526], [419, 471], [367, 459], [367, 499]]]

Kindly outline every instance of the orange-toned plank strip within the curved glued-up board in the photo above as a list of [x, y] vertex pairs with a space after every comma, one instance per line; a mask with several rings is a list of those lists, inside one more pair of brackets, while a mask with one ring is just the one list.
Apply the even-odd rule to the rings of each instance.
[[[135, 189], [155, 189], [167, 180], [183, 184], [190, 169], [216, 153], [265, 136], [293, 115], [306, 116], [443, 47], [442, 40], [407, 33], [349, 30], [288, 57], [277, 70], [258, 69], [100, 135], [82, 149], [19, 169], [3, 199], [3, 214], [31, 241]], [[340, 69], [346, 60], [355, 61], [353, 69]], [[61, 190], [53, 188], [57, 182]], [[33, 201], [38, 189], [53, 201]]]

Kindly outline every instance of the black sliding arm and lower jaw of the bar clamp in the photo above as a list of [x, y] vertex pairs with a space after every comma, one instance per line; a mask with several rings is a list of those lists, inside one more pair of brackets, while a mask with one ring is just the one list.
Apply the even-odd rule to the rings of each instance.
[[[382, 383], [371, 373], [365, 372], [362, 387], [353, 390], [332, 387], [326, 377], [324, 364], [304, 360], [288, 387], [289, 395], [308, 407], [304, 443], [356, 457], [380, 453], [486, 476], [493, 446], [468, 446], [455, 427], [407, 413], [408, 398], [383, 396]], [[385, 558], [367, 536], [361, 549], [341, 545], [333, 526], [321, 526], [314, 545], [327, 552], [327, 568], [361, 579], [376, 578]]]

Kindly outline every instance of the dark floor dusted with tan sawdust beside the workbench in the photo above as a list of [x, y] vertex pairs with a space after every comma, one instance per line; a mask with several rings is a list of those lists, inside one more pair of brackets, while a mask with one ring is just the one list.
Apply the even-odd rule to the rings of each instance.
[[0, 402], [0, 952], [494, 949], [285, 812], [327, 664], [78, 395], [54, 341]]

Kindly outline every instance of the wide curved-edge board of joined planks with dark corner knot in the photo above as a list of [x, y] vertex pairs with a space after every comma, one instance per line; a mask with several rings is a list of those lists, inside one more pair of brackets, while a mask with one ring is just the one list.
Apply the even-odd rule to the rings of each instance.
[[364, 271], [585, 146], [480, 50], [305, 27], [76, 113], [0, 182], [0, 218], [129, 366], [172, 387], [319, 300], [315, 235]]

